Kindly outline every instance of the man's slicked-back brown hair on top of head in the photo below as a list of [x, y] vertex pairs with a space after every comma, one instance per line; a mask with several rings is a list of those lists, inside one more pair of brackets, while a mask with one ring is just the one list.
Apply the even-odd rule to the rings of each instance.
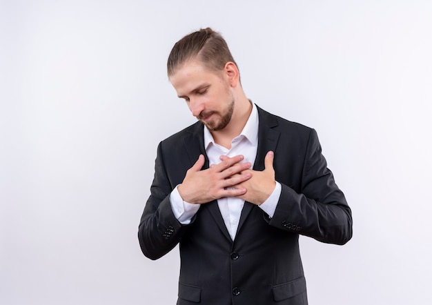
[[228, 61], [235, 63], [224, 37], [211, 28], [204, 28], [175, 43], [166, 65], [168, 77], [183, 63], [195, 58], [214, 71], [222, 70]]

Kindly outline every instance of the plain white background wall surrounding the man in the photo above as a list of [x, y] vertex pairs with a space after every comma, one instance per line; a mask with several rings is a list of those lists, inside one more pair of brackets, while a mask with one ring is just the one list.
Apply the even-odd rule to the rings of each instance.
[[310, 304], [432, 304], [427, 0], [1, 1], [0, 304], [175, 304], [177, 248], [146, 259], [137, 227], [157, 144], [195, 122], [166, 59], [207, 26], [353, 210], [346, 246], [301, 238]]

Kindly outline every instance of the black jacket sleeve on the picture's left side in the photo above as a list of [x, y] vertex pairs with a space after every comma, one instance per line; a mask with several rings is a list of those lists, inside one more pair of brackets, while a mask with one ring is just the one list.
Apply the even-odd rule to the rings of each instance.
[[138, 228], [139, 245], [150, 259], [158, 259], [172, 250], [186, 230], [175, 218], [170, 205], [173, 186], [166, 173], [161, 146], [157, 148], [155, 177]]

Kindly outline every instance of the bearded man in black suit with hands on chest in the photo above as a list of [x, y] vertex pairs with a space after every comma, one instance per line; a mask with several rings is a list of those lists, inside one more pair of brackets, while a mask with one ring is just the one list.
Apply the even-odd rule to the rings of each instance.
[[179, 305], [307, 304], [299, 235], [332, 244], [352, 235], [315, 130], [249, 101], [210, 28], [175, 44], [168, 77], [199, 121], [157, 148], [144, 255], [179, 244]]

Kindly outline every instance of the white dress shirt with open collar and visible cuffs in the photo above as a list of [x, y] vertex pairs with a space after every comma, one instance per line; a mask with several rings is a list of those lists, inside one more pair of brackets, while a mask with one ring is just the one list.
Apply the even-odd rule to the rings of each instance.
[[[236, 155], [243, 155], [243, 161], [249, 161], [254, 164], [255, 157], [257, 156], [258, 148], [258, 111], [255, 104], [252, 103], [252, 112], [239, 136], [231, 141], [231, 148], [225, 148], [219, 144], [215, 144], [213, 136], [206, 126], [204, 126], [204, 147], [208, 157], [209, 165], [220, 163], [219, 157], [226, 155], [234, 157]], [[276, 182], [273, 193], [268, 197], [264, 203], [259, 205], [268, 216], [273, 217], [279, 200], [282, 187], [279, 182]], [[189, 204], [181, 199], [177, 187], [171, 192], [170, 204], [173, 208], [175, 217], [181, 224], [189, 224], [190, 219], [199, 210], [200, 204]], [[234, 240], [239, 225], [240, 215], [244, 206], [244, 200], [236, 197], [224, 197], [217, 199], [217, 205], [224, 219], [225, 226], [228, 229], [230, 237]]]

